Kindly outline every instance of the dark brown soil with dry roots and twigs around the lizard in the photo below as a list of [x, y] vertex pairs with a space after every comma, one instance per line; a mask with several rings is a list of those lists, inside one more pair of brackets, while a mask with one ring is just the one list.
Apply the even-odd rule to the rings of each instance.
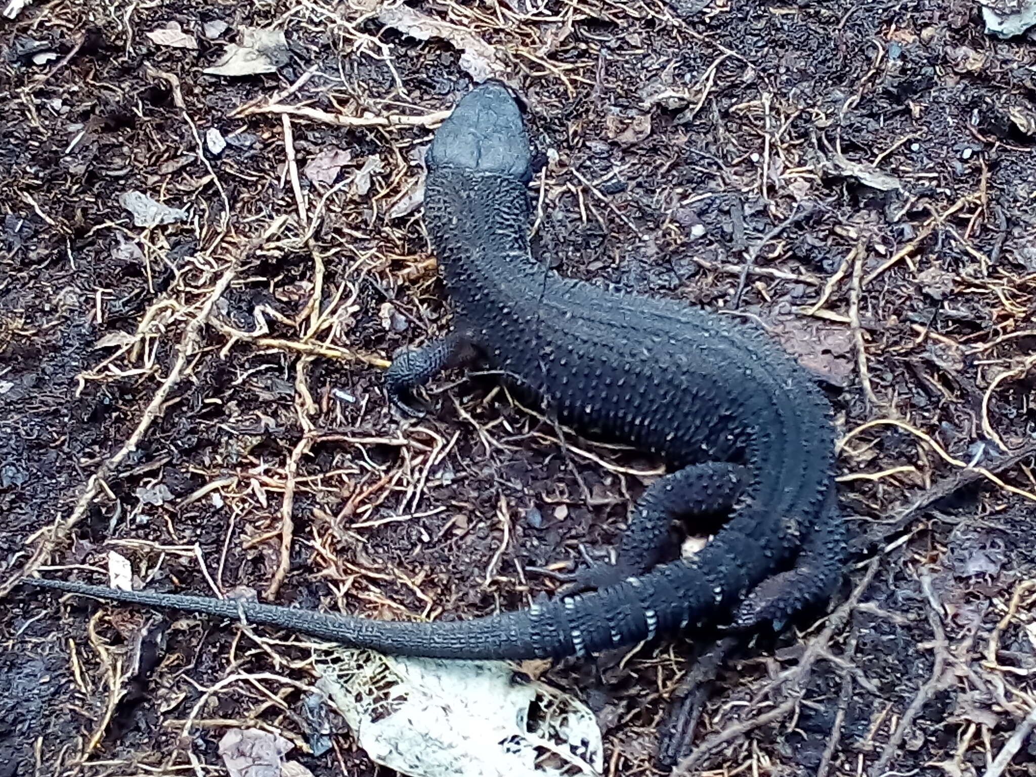
[[[683, 773], [1036, 774], [1032, 44], [965, 0], [414, 7], [469, 29], [476, 62], [493, 47], [526, 97], [543, 257], [737, 308], [830, 390], [857, 538], [836, 614], [723, 665]], [[559, 444], [474, 377], [436, 381], [415, 423], [385, 406], [384, 359], [449, 314], [407, 206], [433, 125], [295, 109], [422, 117], [471, 80], [379, 11], [56, 0], [6, 24], [0, 579], [100, 582], [115, 552], [155, 587], [462, 616], [615, 541], [655, 462]], [[148, 36], [169, 22], [197, 48]], [[203, 73], [271, 25], [277, 73]], [[311, 180], [335, 148], [337, 177]], [[134, 190], [188, 218], [135, 226]], [[226, 684], [180, 736], [205, 689], [301, 648], [4, 591], [0, 777], [222, 769], [250, 720], [318, 777], [376, 771], [337, 719], [308, 753], [303, 697], [272, 681]], [[548, 674], [600, 711], [609, 774], [657, 768], [690, 645]]]

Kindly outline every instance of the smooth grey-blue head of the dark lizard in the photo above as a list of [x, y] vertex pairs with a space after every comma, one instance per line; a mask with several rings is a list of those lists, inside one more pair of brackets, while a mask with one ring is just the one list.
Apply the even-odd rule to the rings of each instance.
[[435, 132], [428, 169], [454, 168], [528, 181], [533, 155], [521, 109], [499, 81], [465, 94]]

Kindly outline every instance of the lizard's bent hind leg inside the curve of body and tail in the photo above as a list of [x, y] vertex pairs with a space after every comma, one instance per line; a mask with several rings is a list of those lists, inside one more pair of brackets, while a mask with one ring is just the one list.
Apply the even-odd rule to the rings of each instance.
[[716, 461], [691, 464], [655, 481], [634, 507], [615, 564], [584, 567], [560, 593], [569, 596], [600, 591], [650, 571], [661, 560], [669, 544], [669, 525], [673, 519], [729, 510], [749, 478], [747, 467]]

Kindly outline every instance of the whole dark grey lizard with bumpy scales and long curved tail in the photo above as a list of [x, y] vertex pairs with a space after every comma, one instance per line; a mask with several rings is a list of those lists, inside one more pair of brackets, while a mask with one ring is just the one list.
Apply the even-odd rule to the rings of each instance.
[[[26, 582], [243, 617], [382, 653], [457, 659], [582, 656], [707, 620], [735, 629], [779, 626], [828, 596], [844, 563], [845, 529], [830, 407], [805, 371], [729, 317], [616, 294], [538, 265], [527, 238], [529, 141], [501, 84], [487, 82], [460, 100], [427, 164], [425, 222], [454, 328], [397, 354], [387, 393], [406, 407], [410, 391], [442, 370], [481, 362], [578, 432], [662, 456], [670, 473], [635, 506], [617, 564], [584, 569], [576, 595], [449, 623]], [[662, 560], [674, 518], [725, 510], [729, 520], [704, 549]]]

